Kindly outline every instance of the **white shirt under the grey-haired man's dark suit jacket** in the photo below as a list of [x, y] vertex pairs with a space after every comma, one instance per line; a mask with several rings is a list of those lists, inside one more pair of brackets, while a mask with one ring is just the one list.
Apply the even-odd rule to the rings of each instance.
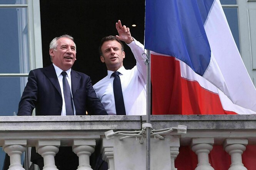
[[[53, 63], [52, 63], [53, 64]], [[53, 64], [54, 65], [54, 64]], [[65, 99], [64, 99], [64, 92], [63, 92], [63, 83], [62, 83], [62, 69], [60, 69], [59, 67], [54, 65], [54, 69], [56, 72], [56, 75], [58, 77], [59, 80], [59, 84], [60, 84], [60, 90], [61, 90], [61, 96], [62, 96], [62, 110], [61, 110], [61, 116], [66, 116], [66, 105], [65, 105]], [[68, 69], [67, 71], [65, 71], [67, 73], [67, 81], [69, 83], [69, 87], [70, 87], [70, 91], [71, 91], [71, 95], [72, 95], [72, 89], [71, 89], [71, 68]], [[74, 101], [73, 101], [73, 95], [72, 95], [72, 103], [73, 103], [73, 107], [74, 107], [74, 115], [75, 115], [75, 105], [74, 105]]]

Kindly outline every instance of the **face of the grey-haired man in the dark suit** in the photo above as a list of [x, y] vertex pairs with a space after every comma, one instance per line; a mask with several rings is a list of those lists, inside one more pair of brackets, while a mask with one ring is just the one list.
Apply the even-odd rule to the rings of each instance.
[[50, 49], [50, 56], [52, 56], [52, 63], [63, 71], [70, 69], [76, 58], [75, 43], [69, 38], [62, 37], [57, 40], [57, 48]]

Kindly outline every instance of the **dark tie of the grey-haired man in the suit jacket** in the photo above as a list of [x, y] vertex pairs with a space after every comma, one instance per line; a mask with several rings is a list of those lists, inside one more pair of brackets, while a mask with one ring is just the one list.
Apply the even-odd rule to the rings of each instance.
[[66, 105], [66, 115], [67, 116], [74, 115], [71, 91], [70, 91], [69, 83], [66, 78], [67, 73], [65, 71], [62, 71], [61, 74], [63, 76], [62, 83], [63, 83], [63, 93], [64, 93], [64, 99], [65, 99], [65, 105]]

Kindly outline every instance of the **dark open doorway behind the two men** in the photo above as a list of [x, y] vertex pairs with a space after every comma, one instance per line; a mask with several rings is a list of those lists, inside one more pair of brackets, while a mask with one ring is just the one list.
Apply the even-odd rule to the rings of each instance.
[[[69, 34], [77, 45], [77, 61], [73, 69], [88, 74], [92, 84], [107, 75], [99, 59], [101, 38], [117, 35], [115, 23], [121, 20], [136, 40], [144, 43], [145, 0], [40, 0], [43, 65], [51, 64], [49, 43]], [[136, 23], [136, 27], [131, 25]], [[136, 61], [125, 45], [124, 66], [131, 69]]]

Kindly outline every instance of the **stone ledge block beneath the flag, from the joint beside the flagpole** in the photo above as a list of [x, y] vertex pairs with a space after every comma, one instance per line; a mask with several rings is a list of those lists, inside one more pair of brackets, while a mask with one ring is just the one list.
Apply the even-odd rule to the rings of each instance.
[[[146, 122], [146, 116], [142, 116]], [[186, 125], [187, 130], [256, 129], [256, 115], [153, 115], [153, 129]]]

